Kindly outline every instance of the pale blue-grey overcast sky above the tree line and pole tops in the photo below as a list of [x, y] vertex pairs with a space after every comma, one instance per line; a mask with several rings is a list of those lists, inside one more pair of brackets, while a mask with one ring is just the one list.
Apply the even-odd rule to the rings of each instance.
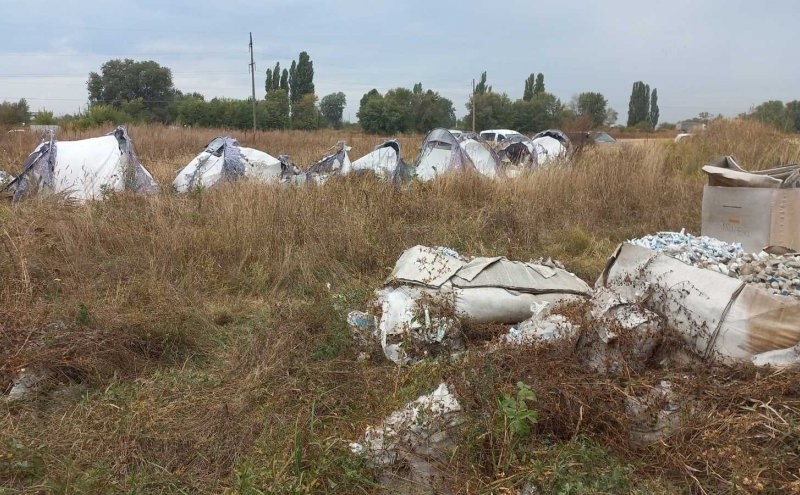
[[184, 92], [247, 98], [248, 33], [256, 95], [267, 68], [300, 51], [317, 95], [358, 101], [422, 82], [453, 100], [488, 72], [496, 92], [522, 96], [532, 72], [564, 102], [598, 91], [627, 117], [634, 81], [658, 88], [661, 121], [736, 115], [765, 100], [800, 99], [800, 2], [739, 0], [419, 1], [0, 0], [0, 100], [32, 110], [85, 108], [86, 79], [113, 58], [155, 60]]

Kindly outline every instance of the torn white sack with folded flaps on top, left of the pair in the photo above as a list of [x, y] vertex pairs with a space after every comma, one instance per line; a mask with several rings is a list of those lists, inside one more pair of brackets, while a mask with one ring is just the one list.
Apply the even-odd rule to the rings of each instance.
[[442, 347], [450, 354], [461, 350], [452, 332], [456, 320], [519, 323], [531, 317], [532, 306], [583, 299], [591, 292], [555, 263], [466, 259], [452, 249], [426, 246], [406, 250], [387, 285], [376, 292], [382, 314], [378, 333], [384, 354], [398, 364]]

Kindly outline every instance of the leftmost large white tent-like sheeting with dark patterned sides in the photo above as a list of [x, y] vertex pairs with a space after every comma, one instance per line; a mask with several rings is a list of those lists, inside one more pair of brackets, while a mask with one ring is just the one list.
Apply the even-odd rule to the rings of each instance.
[[14, 201], [35, 194], [63, 194], [83, 201], [102, 199], [110, 191], [158, 191], [124, 127], [79, 141], [56, 141], [51, 134], [29, 155], [22, 173], [8, 187], [13, 188]]

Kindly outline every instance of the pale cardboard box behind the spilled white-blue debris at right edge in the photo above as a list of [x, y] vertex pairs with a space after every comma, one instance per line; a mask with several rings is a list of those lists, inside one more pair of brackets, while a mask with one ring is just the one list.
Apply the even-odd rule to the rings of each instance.
[[800, 189], [705, 186], [701, 232], [741, 242], [748, 252], [767, 246], [800, 251]]

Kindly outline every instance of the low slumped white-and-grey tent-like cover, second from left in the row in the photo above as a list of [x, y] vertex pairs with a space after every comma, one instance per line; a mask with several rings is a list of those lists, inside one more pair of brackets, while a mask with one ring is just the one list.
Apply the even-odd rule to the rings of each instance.
[[212, 187], [220, 182], [248, 178], [266, 183], [281, 181], [283, 167], [277, 158], [245, 148], [232, 137], [213, 139], [180, 172], [172, 186], [178, 192]]

